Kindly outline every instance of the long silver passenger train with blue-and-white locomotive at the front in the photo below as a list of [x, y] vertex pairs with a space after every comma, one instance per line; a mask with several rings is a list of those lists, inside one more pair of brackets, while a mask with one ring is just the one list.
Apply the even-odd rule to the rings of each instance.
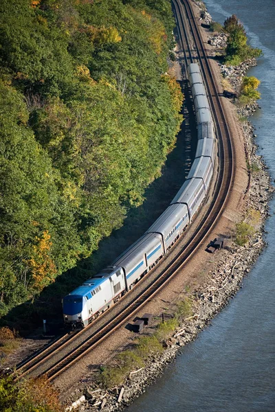
[[187, 179], [170, 205], [144, 235], [63, 298], [65, 325], [86, 327], [131, 290], [168, 253], [203, 203], [214, 170], [214, 126], [206, 88], [197, 63], [187, 69], [197, 119], [197, 151]]

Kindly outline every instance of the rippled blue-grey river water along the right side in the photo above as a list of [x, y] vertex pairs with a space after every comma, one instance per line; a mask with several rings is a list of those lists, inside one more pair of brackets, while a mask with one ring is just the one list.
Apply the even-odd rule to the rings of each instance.
[[[259, 154], [275, 179], [275, 0], [208, 0], [219, 23], [232, 15], [253, 47], [263, 49], [248, 73], [261, 80], [261, 110], [251, 118]], [[243, 288], [190, 343], [155, 385], [127, 412], [275, 411], [275, 199], [267, 220], [268, 246]]]

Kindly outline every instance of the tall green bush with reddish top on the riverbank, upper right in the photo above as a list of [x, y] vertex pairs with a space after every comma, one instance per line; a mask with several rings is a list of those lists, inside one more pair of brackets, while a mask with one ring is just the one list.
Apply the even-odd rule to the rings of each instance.
[[228, 33], [225, 49], [225, 62], [228, 65], [236, 66], [249, 58], [261, 56], [261, 49], [254, 49], [247, 44], [245, 29], [235, 14], [225, 20], [223, 27]]

